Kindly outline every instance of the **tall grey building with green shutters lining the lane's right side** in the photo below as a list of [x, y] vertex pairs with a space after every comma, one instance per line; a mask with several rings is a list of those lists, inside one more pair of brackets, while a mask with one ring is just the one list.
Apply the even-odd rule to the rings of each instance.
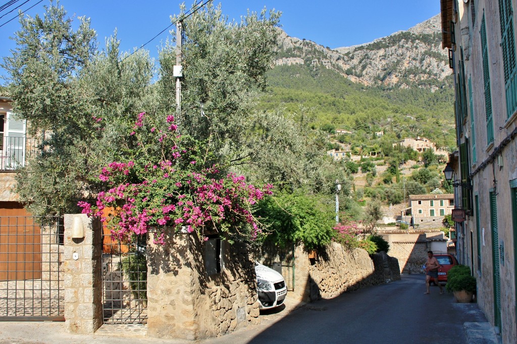
[[[449, 157], [465, 217], [460, 263], [504, 344], [517, 338], [517, 0], [441, 0], [442, 47], [454, 80], [458, 154]], [[456, 158], [458, 157], [458, 159]]]

